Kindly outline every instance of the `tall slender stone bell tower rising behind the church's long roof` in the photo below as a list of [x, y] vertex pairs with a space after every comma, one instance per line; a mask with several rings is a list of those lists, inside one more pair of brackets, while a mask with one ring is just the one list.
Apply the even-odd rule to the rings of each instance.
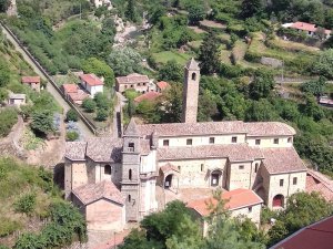
[[185, 79], [183, 87], [183, 123], [196, 123], [200, 68], [192, 58], [185, 65]]

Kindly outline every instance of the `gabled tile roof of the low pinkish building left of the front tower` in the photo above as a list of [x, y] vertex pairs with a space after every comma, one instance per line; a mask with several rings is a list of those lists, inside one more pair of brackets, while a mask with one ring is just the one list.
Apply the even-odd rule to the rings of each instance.
[[89, 205], [102, 198], [124, 205], [124, 197], [111, 180], [103, 180], [98, 184], [87, 184], [74, 188], [72, 193], [84, 205]]

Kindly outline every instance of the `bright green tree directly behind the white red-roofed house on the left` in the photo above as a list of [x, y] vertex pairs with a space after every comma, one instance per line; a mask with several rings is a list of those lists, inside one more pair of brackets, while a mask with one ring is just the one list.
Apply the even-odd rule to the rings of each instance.
[[104, 62], [97, 58], [89, 58], [82, 63], [84, 73], [94, 73], [99, 77], [104, 77], [107, 86], [112, 87], [114, 84], [113, 70]]

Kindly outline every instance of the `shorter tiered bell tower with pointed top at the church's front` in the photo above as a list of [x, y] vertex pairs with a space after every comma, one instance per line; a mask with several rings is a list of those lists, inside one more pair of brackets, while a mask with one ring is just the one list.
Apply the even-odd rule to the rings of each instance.
[[121, 193], [125, 197], [127, 221], [139, 220], [140, 208], [140, 135], [134, 120], [123, 134]]

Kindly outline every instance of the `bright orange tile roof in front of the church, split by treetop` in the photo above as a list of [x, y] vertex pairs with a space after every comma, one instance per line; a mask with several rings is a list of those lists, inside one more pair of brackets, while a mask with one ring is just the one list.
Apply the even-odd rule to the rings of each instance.
[[[222, 199], [226, 200], [225, 208], [229, 210], [236, 210], [243, 207], [252, 207], [254, 205], [263, 204], [263, 200], [250, 189], [238, 188], [231, 191], [223, 190]], [[199, 215], [205, 217], [210, 215], [208, 204], [216, 205], [214, 198], [202, 198], [190, 201], [186, 206], [193, 208]]]

